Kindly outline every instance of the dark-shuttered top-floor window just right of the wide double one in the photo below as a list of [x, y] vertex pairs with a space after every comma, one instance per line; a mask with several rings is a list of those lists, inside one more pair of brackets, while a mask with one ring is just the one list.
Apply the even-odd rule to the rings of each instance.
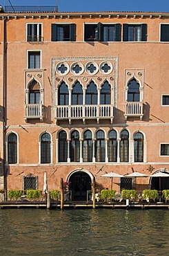
[[147, 41], [147, 24], [123, 24], [123, 42]]

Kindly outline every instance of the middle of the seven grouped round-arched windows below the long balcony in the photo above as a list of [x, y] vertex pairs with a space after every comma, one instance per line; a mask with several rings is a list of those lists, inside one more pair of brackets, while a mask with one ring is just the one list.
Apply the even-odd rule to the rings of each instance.
[[99, 130], [96, 134], [95, 142], [95, 158], [97, 162], [105, 162], [106, 158], [106, 143], [104, 132]]

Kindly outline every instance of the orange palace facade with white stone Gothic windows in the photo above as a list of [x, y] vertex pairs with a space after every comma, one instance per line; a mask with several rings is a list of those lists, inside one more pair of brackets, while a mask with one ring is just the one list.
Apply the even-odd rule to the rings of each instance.
[[[94, 176], [110, 188], [101, 175], [169, 172], [168, 18], [1, 8], [1, 189], [43, 190], [47, 172], [48, 190], [63, 178], [85, 200]], [[137, 183], [159, 190], [158, 178]]]

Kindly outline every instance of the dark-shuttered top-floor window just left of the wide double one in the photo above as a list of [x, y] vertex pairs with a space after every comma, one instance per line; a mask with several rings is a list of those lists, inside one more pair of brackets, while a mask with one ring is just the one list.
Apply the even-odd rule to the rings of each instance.
[[76, 24], [52, 24], [52, 42], [76, 41]]

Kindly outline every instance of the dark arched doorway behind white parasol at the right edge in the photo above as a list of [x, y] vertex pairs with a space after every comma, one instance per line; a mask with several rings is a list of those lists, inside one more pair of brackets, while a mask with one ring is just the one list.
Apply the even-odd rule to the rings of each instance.
[[[168, 190], [169, 189], [169, 176], [158, 176], [158, 173], [162, 174], [168, 174], [168, 170], [158, 170], [157, 172], [154, 172], [154, 174], [157, 174], [157, 176], [151, 178], [151, 190], [158, 190], [158, 191], [163, 191], [163, 190]], [[153, 175], [154, 175], [153, 174]]]

